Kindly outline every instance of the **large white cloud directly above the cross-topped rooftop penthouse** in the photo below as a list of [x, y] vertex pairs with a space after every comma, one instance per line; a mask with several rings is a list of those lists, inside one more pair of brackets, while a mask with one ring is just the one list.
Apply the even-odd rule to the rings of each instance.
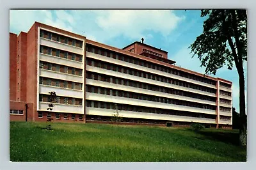
[[108, 38], [118, 35], [127, 38], [143, 36], [144, 31], [155, 31], [168, 36], [184, 17], [170, 10], [96, 10], [96, 23]]

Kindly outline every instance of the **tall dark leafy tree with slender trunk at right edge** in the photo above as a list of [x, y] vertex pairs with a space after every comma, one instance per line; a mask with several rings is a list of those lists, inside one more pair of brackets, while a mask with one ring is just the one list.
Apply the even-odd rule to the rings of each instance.
[[241, 145], [246, 145], [247, 119], [244, 95], [244, 68], [247, 61], [247, 12], [246, 10], [202, 10], [204, 31], [189, 48], [193, 57], [198, 56], [205, 74], [215, 75], [216, 71], [236, 65], [239, 75], [239, 107]]

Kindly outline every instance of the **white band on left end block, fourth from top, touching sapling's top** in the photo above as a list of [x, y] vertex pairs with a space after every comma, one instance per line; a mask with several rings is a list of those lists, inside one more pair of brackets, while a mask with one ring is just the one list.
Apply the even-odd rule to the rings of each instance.
[[56, 95], [61, 97], [83, 98], [82, 90], [46, 86], [42, 84], [39, 85], [39, 93], [48, 94], [50, 91], [55, 91]]

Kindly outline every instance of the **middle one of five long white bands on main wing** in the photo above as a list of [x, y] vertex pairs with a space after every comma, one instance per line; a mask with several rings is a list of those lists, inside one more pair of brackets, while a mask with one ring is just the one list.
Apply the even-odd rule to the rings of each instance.
[[180, 95], [172, 95], [172, 94], [163, 93], [163, 92], [159, 92], [159, 91], [152, 91], [152, 90], [148, 90], [148, 89], [134, 88], [134, 87], [131, 87], [131, 86], [113, 84], [113, 83], [110, 83], [110, 82], [95, 81], [95, 80], [92, 80], [92, 79], [86, 79], [86, 84], [93, 85], [93, 86], [99, 86], [99, 87], [103, 87], [103, 88], [112, 88], [112, 89], [120, 89], [120, 90], [124, 90], [124, 91], [131, 91], [131, 92], [134, 92], [134, 93], [141, 93], [141, 94], [145, 94], [145, 95], [154, 95], [154, 96], [157, 96], [157, 97], [175, 98], [175, 99], [178, 99], [178, 100], [186, 100], [186, 101], [189, 101], [189, 102], [198, 102], [200, 104], [216, 105], [215, 102], [211, 102], [211, 101], [207, 101], [207, 100], [200, 100], [200, 99], [191, 98], [191, 97], [182, 97]]

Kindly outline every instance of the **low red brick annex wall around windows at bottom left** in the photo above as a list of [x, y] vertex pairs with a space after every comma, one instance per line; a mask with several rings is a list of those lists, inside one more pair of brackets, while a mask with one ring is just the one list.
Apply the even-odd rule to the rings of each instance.
[[10, 114], [10, 121], [26, 121], [26, 104], [28, 105], [28, 121], [33, 121], [33, 104], [26, 102], [10, 101], [10, 109], [23, 110], [23, 114]]

